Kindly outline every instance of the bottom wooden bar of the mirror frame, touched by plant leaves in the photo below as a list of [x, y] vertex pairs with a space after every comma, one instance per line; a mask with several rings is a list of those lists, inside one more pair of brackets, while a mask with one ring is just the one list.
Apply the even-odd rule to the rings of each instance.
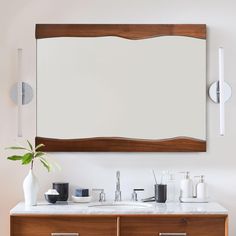
[[205, 152], [206, 141], [188, 137], [171, 139], [85, 138], [53, 139], [36, 137], [35, 145], [45, 144], [47, 152]]

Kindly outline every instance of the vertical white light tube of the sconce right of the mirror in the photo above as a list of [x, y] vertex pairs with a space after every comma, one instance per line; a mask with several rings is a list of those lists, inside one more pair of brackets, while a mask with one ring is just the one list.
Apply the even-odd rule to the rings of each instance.
[[225, 134], [224, 48], [219, 48], [220, 135]]

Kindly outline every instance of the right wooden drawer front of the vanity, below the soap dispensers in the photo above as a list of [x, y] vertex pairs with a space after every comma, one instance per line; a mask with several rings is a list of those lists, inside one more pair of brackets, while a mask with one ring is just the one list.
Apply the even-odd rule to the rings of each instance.
[[121, 236], [225, 236], [225, 218], [121, 218]]

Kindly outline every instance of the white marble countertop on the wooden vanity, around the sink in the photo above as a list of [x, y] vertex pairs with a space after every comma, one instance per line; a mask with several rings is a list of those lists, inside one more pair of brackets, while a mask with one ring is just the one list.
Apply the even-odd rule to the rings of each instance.
[[228, 216], [228, 210], [217, 202], [210, 203], [153, 203], [148, 210], [105, 210], [91, 209], [88, 205], [69, 202], [68, 205], [47, 205], [45, 202], [34, 207], [25, 207], [23, 202], [18, 203], [10, 210], [10, 216]]

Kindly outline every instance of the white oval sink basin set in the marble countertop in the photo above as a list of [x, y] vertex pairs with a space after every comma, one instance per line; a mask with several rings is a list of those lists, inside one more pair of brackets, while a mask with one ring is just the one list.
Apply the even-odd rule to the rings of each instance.
[[144, 202], [121, 201], [121, 202], [99, 202], [89, 205], [89, 207], [114, 209], [114, 210], [135, 210], [151, 208], [152, 205]]

